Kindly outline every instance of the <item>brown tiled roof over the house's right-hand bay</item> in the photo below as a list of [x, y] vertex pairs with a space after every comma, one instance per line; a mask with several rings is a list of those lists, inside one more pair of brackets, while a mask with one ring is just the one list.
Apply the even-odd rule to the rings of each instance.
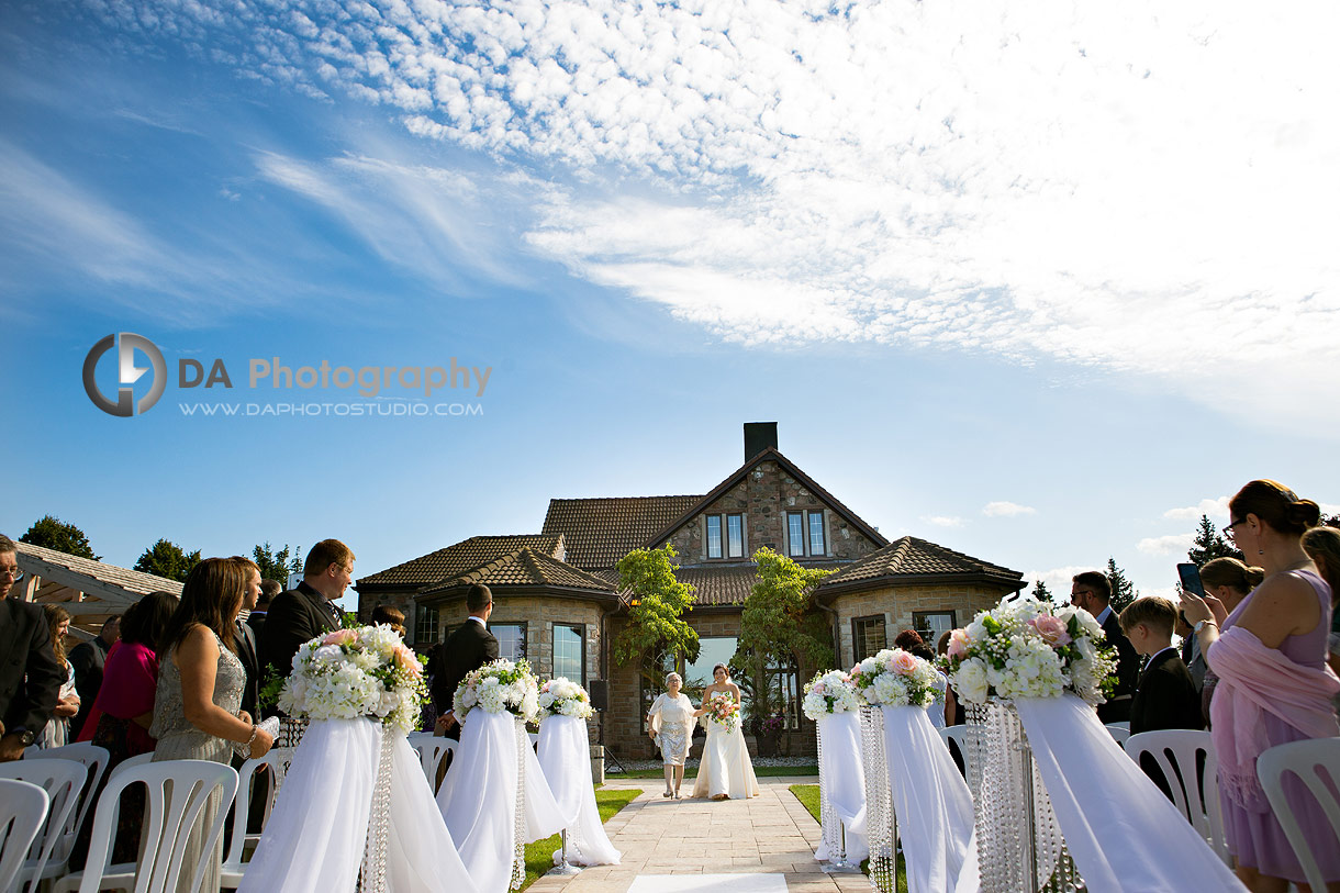
[[1018, 590], [1024, 575], [980, 558], [955, 552], [915, 536], [895, 539], [888, 546], [847, 564], [819, 585], [825, 601], [844, 589], [866, 589], [875, 582], [982, 582]]

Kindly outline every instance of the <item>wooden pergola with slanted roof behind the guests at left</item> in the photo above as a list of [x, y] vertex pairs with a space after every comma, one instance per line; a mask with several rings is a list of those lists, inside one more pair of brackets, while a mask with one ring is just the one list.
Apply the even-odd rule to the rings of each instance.
[[181, 595], [181, 583], [166, 577], [28, 543], [17, 543], [17, 547], [23, 577], [9, 590], [9, 598], [39, 605], [59, 603], [74, 615], [70, 632], [78, 638], [92, 638], [109, 617], [123, 614], [149, 593]]

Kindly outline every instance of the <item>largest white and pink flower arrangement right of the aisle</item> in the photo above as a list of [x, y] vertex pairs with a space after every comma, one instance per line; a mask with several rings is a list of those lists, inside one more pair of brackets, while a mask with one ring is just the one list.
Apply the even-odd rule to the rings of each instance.
[[946, 669], [954, 691], [972, 704], [1071, 691], [1097, 705], [1116, 670], [1116, 649], [1103, 638], [1103, 628], [1084, 609], [1001, 602], [950, 634]]

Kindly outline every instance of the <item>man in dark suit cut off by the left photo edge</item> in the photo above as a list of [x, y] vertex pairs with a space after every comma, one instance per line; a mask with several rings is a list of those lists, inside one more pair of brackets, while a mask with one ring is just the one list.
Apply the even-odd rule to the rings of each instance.
[[9, 598], [17, 577], [19, 548], [0, 534], [0, 763], [42, 735], [66, 677], [42, 606]]

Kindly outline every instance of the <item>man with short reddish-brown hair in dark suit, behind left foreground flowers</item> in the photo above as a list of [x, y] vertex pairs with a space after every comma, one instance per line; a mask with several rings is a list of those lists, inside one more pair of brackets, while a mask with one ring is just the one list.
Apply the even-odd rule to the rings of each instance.
[[343, 626], [335, 603], [354, 579], [354, 552], [338, 539], [312, 546], [303, 563], [303, 582], [280, 593], [269, 605], [260, 637], [260, 666], [273, 666], [281, 676], [293, 669], [293, 654], [303, 642]]

